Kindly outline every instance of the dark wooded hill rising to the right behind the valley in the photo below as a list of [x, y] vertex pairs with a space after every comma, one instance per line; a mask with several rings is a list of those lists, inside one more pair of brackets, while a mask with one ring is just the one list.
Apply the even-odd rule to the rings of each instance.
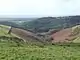
[[80, 16], [42, 17], [29, 22], [23, 22], [24, 28], [33, 32], [48, 32], [50, 29], [69, 28], [80, 24]]

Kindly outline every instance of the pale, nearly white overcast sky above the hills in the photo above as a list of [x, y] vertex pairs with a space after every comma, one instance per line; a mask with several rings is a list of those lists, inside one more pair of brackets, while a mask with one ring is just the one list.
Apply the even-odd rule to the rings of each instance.
[[80, 15], [80, 0], [0, 0], [0, 17]]

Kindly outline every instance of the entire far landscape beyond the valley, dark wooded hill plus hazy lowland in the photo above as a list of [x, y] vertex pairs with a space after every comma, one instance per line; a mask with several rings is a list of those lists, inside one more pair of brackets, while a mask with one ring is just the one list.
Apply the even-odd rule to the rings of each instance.
[[80, 16], [42, 17], [42, 18], [0, 18], [0, 24], [9, 25], [34, 33], [61, 30], [80, 24]]

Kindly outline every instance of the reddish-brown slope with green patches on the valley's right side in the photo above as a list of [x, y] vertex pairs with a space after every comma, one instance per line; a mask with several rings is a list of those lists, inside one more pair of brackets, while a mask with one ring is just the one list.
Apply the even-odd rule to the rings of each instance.
[[53, 43], [80, 43], [80, 25], [76, 25], [72, 28], [62, 29], [52, 35]]

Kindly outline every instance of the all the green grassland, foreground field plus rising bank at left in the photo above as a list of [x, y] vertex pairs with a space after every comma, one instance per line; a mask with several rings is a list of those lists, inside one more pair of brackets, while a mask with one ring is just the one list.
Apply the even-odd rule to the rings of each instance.
[[0, 27], [0, 60], [80, 60], [80, 44], [31, 45]]

